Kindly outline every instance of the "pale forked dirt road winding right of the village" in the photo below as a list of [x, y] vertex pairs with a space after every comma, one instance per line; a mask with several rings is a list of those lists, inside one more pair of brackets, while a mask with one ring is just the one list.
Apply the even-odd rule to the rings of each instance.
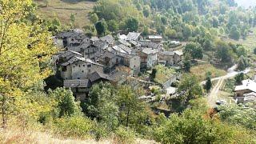
[[[246, 70], [243, 71], [235, 71], [237, 68], [237, 65], [234, 65], [232, 67], [230, 67], [230, 69], [227, 70], [227, 74], [222, 76], [222, 77], [218, 77], [218, 78], [212, 78], [211, 81], [218, 81], [217, 84], [212, 88], [212, 90], [210, 90], [210, 94], [208, 94], [207, 96], [207, 102], [209, 104], [210, 107], [215, 107], [216, 106], [216, 101], [218, 100], [218, 91], [220, 90], [220, 88], [222, 87], [223, 83], [225, 82], [225, 80], [227, 78], [232, 78], [237, 74], [247, 74], [251, 71], [250, 68], [247, 68]], [[204, 85], [206, 83], [206, 81], [201, 82], [202, 85]]]

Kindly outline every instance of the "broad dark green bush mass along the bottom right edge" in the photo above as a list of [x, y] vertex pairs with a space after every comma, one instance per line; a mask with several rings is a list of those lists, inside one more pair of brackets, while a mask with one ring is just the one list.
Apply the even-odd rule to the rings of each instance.
[[[239, 137], [240, 134], [244, 137]], [[249, 137], [251, 139], [247, 139]], [[232, 143], [254, 142], [253, 134], [250, 136], [246, 130], [228, 126], [208, 118], [202, 114], [186, 110], [180, 116], [172, 114], [155, 130], [154, 138], [162, 143]]]

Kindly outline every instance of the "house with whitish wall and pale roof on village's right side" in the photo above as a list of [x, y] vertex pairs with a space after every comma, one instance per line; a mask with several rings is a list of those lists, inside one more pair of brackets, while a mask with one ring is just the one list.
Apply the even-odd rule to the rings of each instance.
[[144, 48], [138, 52], [142, 68], [152, 68], [158, 63], [158, 50]]

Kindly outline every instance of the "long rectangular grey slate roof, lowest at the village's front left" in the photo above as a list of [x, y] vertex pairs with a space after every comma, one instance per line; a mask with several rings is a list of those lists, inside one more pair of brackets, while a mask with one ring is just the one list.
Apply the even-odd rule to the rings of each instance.
[[89, 88], [90, 86], [91, 82], [89, 79], [64, 80], [64, 87], [66, 88]]

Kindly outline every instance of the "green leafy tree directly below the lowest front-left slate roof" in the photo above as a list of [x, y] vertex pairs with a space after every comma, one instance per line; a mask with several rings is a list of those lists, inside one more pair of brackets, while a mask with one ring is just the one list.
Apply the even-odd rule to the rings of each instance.
[[82, 111], [79, 106], [79, 102], [74, 101], [74, 95], [71, 90], [57, 88], [56, 90], [50, 90], [49, 95], [57, 102], [56, 109], [58, 112], [58, 118], [78, 115]]

